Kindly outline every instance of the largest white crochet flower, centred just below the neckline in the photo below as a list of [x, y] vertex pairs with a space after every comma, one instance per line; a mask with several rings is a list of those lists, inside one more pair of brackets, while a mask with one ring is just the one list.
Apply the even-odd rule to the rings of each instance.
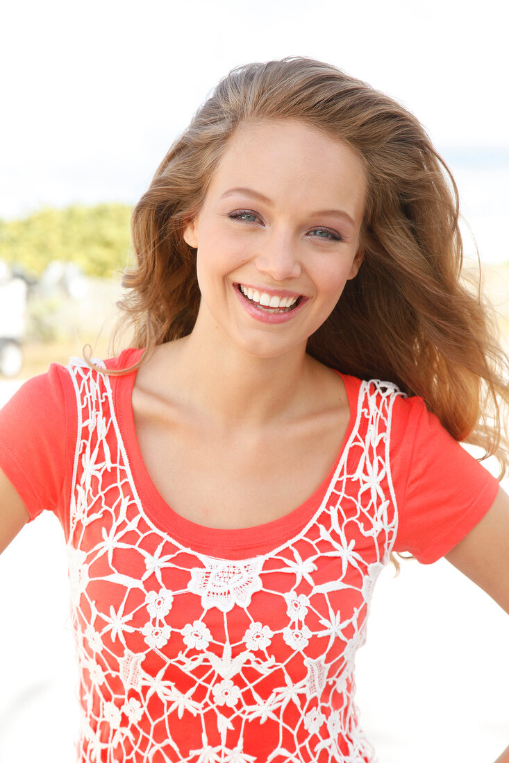
[[188, 591], [202, 597], [202, 607], [210, 610], [217, 607], [221, 612], [229, 612], [235, 607], [248, 607], [255, 591], [261, 591], [260, 579], [263, 559], [213, 559], [200, 556], [205, 569], [193, 568]]

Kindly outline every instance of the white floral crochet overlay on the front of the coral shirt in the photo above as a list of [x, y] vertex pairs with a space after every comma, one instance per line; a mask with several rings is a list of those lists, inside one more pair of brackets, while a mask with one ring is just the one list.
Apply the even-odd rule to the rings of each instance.
[[[68, 539], [79, 761], [372, 761], [353, 669], [397, 531], [388, 453], [400, 391], [362, 382], [313, 520], [272, 552], [229, 560], [154, 525], [109, 379], [80, 359], [69, 371], [79, 414]], [[270, 755], [257, 755], [260, 739]]]

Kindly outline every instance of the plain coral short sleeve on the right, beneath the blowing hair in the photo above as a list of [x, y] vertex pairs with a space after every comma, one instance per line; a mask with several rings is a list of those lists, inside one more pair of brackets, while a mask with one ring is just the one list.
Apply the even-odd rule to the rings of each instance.
[[498, 481], [426, 409], [422, 398], [397, 398], [391, 466], [398, 507], [393, 551], [431, 564], [485, 516]]

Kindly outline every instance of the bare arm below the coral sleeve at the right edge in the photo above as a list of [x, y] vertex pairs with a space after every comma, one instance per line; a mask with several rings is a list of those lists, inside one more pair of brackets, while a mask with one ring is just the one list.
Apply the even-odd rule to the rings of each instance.
[[502, 488], [485, 517], [446, 559], [509, 614], [509, 495]]

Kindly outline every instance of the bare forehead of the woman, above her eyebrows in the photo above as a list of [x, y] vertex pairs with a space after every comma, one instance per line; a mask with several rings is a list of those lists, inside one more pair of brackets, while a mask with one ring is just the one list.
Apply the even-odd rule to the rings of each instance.
[[209, 194], [248, 187], [296, 206], [348, 206], [362, 214], [366, 177], [360, 157], [344, 141], [297, 121], [241, 123], [226, 146]]

